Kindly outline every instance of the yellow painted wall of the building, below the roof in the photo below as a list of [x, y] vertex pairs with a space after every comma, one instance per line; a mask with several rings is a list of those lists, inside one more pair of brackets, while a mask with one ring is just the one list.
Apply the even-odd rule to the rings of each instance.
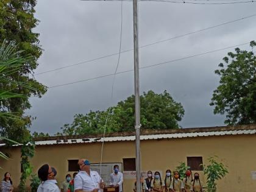
[[[3, 151], [0, 148], [0, 151]], [[14, 185], [20, 179], [20, 149], [7, 150], [11, 160], [0, 160], [1, 176], [5, 171], [12, 174]], [[218, 155], [222, 162], [229, 166], [229, 174], [218, 183], [218, 191], [255, 191], [256, 180], [251, 171], [256, 171], [256, 135], [229, 135], [219, 137], [176, 138], [141, 141], [141, 169], [174, 171], [179, 162], [187, 162], [187, 157], [207, 158]], [[68, 160], [88, 158], [91, 163], [100, 162], [101, 143], [54, 144], [37, 146], [32, 159], [35, 172], [44, 163], [57, 169], [57, 180], [62, 182], [68, 172]], [[123, 163], [123, 158], [135, 157], [135, 141], [113, 141], [104, 144], [104, 163]], [[201, 174], [202, 182], [205, 177]], [[164, 176], [162, 176], [164, 177]], [[131, 192], [135, 179], [124, 180], [124, 192]]]

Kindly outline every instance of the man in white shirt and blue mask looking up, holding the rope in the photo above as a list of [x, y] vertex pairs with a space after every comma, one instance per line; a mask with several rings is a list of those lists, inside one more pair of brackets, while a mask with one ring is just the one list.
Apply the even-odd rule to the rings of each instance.
[[91, 171], [90, 162], [84, 158], [78, 161], [79, 173], [74, 178], [75, 192], [101, 192], [105, 183], [98, 172]]

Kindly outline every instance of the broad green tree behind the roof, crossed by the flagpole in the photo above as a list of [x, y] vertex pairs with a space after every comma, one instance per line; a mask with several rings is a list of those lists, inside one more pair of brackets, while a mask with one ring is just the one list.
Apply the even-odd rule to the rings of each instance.
[[[181, 121], [184, 110], [167, 91], [161, 94], [148, 91], [143, 93], [140, 99], [142, 129], [179, 129], [178, 121]], [[134, 96], [130, 96], [105, 111], [90, 111], [85, 115], [76, 114], [72, 124], [65, 124], [61, 128], [63, 135], [103, 133], [105, 125], [107, 133], [133, 131], [134, 105]]]

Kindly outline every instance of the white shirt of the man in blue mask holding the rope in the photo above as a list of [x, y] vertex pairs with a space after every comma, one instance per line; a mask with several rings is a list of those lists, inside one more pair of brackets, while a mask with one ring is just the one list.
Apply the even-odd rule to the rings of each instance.
[[92, 191], [94, 189], [99, 189], [99, 182], [103, 182], [101, 176], [99, 176], [98, 172], [90, 170], [90, 176], [86, 171], [79, 171], [79, 173], [74, 178], [74, 190], [85, 190]]

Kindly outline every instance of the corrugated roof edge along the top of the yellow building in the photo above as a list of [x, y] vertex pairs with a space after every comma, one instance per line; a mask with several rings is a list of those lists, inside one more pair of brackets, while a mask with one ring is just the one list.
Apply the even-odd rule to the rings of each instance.
[[[256, 134], [256, 124], [246, 126], [223, 126], [223, 127], [201, 127], [187, 129], [168, 129], [168, 130], [141, 130], [140, 140], [159, 140], [171, 138], [193, 138], [210, 137], [221, 135], [254, 135]], [[51, 144], [73, 144], [73, 143], [94, 143], [111, 141], [135, 141], [135, 132], [109, 133], [105, 135], [79, 135], [71, 137], [47, 137], [35, 138], [36, 145]], [[4, 146], [0, 143], [0, 146]]]

